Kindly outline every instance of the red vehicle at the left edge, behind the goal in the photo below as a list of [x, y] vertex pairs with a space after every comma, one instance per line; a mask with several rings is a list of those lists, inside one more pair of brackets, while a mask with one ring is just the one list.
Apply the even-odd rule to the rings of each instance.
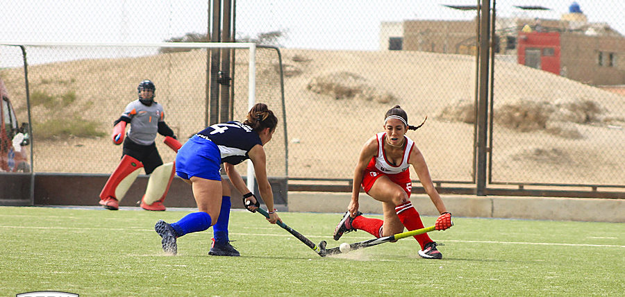
[[9, 100], [4, 82], [0, 79], [0, 172], [30, 172], [27, 152], [23, 146], [28, 140], [28, 123], [17, 126], [15, 110]]

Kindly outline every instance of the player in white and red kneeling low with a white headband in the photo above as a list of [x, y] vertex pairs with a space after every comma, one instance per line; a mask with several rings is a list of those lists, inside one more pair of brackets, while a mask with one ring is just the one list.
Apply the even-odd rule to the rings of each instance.
[[[427, 118], [426, 118], [427, 119]], [[425, 121], [424, 121], [425, 122]], [[360, 150], [358, 164], [353, 173], [353, 189], [347, 212], [336, 226], [334, 239], [338, 240], [345, 232], [365, 230], [375, 237], [386, 237], [403, 232], [403, 228], [417, 230], [424, 228], [419, 212], [410, 203], [410, 165], [417, 172], [426, 193], [440, 213], [436, 219], [436, 230], [446, 230], [452, 226], [451, 213], [436, 191], [428, 166], [419, 148], [406, 136], [407, 130], [417, 130], [419, 126], [408, 125], [408, 115], [399, 105], [388, 110], [384, 119], [384, 132], [369, 138]], [[384, 219], [364, 217], [358, 211], [360, 187], [383, 204]], [[427, 233], [415, 235], [426, 259], [441, 259], [437, 244]]]

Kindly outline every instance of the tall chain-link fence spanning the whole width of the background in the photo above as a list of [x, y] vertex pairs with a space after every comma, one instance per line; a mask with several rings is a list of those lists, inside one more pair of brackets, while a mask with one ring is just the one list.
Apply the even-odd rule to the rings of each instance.
[[[276, 133], [267, 145], [269, 175], [351, 179], [361, 146], [382, 130], [385, 111], [401, 105], [412, 125], [428, 118], [408, 136], [424, 153], [433, 179], [474, 183], [476, 4], [404, 2], [236, 3], [240, 40], [262, 33], [279, 37], [272, 42], [282, 53], [285, 114], [277, 53], [258, 49], [257, 58], [257, 101], [287, 122], [280, 121], [278, 128], [287, 130], [288, 139]], [[548, 1], [543, 8], [520, 2], [497, 1], [496, 7], [490, 183], [625, 185], [625, 175], [617, 174], [625, 159], [620, 149], [625, 95], [603, 87], [622, 90], [618, 85], [625, 85], [625, 22], [618, 17], [623, 9], [592, 8], [581, 12], [583, 19], [565, 1]], [[93, 38], [88, 41], [163, 42], [206, 33], [210, 19], [208, 3], [156, 3], [149, 22], [140, 22], [131, 2], [115, 5], [102, 15], [88, 4], [76, 8], [101, 19], [93, 22], [113, 35], [103, 30], [101, 36], [90, 36], [91, 22], [71, 24], [81, 37]], [[625, 8], [619, 1], [612, 6]], [[7, 11], [19, 17], [31, 9]], [[50, 13], [72, 19], [81, 12]], [[159, 25], [149, 27], [153, 22]], [[68, 41], [67, 25], [29, 26], [8, 33], [33, 33], [25, 41]], [[205, 124], [205, 50], [27, 50], [35, 171], [110, 173], [121, 154], [110, 144], [112, 123], [136, 99], [142, 79], [156, 84], [156, 101], [164, 105], [165, 120], [180, 139]], [[0, 77], [24, 121], [21, 52], [1, 46], [0, 55]], [[235, 53], [233, 119], [238, 120], [247, 112], [247, 56], [245, 50]], [[90, 132], [42, 136], [53, 130], [52, 124], [67, 122]], [[173, 152], [157, 143], [163, 160], [173, 160]]]

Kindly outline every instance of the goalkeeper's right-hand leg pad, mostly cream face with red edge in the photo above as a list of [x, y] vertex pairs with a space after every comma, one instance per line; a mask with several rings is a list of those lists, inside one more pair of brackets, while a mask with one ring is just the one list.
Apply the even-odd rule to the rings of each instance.
[[165, 210], [163, 200], [165, 200], [165, 196], [167, 196], [169, 186], [172, 185], [175, 173], [175, 162], [160, 165], [152, 171], [145, 195], [141, 199], [140, 206], [144, 210]]

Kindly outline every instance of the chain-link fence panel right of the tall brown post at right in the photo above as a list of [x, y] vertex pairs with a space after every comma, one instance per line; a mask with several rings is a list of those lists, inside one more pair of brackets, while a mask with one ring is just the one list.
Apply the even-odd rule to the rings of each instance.
[[492, 183], [625, 185], [625, 21], [567, 4], [497, 19]]

